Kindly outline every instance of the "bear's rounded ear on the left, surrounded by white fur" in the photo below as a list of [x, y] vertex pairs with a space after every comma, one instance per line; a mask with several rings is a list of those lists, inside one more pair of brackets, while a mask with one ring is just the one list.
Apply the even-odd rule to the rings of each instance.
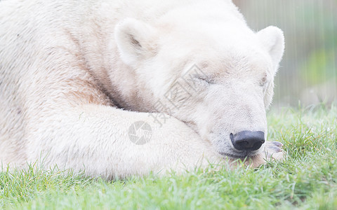
[[140, 59], [154, 55], [154, 27], [140, 20], [127, 18], [116, 25], [114, 38], [123, 62], [135, 66]]

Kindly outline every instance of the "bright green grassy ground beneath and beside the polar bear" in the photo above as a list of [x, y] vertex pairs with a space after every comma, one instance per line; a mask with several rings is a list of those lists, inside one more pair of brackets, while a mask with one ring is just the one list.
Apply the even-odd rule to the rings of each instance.
[[337, 209], [337, 108], [270, 112], [288, 156], [259, 169], [107, 182], [29, 169], [0, 173], [0, 209]]

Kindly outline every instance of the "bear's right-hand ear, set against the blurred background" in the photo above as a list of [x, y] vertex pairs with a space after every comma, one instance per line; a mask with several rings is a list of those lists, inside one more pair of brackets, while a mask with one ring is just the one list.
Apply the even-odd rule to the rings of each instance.
[[284, 52], [283, 31], [278, 27], [270, 26], [258, 31], [257, 35], [263, 48], [269, 52], [274, 69], [277, 71]]

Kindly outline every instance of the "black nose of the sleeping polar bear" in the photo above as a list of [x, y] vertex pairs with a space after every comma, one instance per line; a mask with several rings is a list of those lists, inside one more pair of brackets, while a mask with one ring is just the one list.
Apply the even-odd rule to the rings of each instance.
[[234, 135], [230, 134], [230, 140], [239, 151], [257, 151], [265, 143], [265, 133], [245, 130]]

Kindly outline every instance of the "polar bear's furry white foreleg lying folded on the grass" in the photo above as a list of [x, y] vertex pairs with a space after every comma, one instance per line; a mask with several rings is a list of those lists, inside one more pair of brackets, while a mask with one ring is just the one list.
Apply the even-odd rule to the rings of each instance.
[[159, 125], [149, 113], [111, 106], [68, 109], [51, 116], [48, 127], [34, 128], [28, 156], [31, 161], [43, 159], [48, 167], [57, 164], [107, 179], [168, 169], [181, 172], [223, 160], [185, 123], [166, 117]]

